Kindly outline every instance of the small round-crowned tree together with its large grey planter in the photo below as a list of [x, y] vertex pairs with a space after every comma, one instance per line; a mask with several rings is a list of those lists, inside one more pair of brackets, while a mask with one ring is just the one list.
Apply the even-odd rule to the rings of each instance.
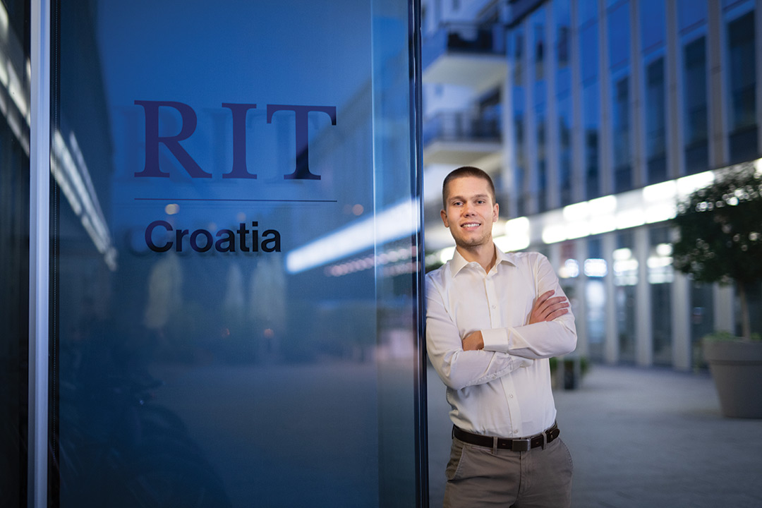
[[762, 340], [751, 333], [748, 291], [762, 283], [762, 175], [754, 165], [729, 168], [677, 206], [677, 270], [703, 283], [735, 283], [741, 337], [710, 334], [703, 353], [722, 414], [762, 418]]

